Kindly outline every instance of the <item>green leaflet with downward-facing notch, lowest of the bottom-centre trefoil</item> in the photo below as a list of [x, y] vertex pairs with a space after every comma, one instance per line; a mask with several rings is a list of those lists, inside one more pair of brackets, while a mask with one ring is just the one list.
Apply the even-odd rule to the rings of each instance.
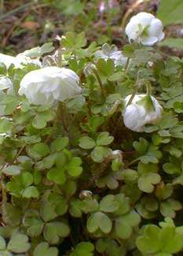
[[90, 233], [97, 232], [99, 229], [105, 234], [108, 234], [112, 230], [112, 221], [108, 215], [97, 212], [90, 215], [86, 227]]

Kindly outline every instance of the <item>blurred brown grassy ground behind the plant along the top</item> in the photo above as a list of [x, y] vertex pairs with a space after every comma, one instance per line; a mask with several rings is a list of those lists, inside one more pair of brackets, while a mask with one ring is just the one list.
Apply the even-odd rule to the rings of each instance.
[[[126, 22], [135, 13], [156, 14], [159, 0], [0, 0], [0, 52], [18, 54], [53, 42], [65, 32], [86, 32], [89, 41], [127, 43]], [[166, 28], [166, 34], [183, 37], [182, 26]], [[182, 55], [178, 50], [163, 50]]]

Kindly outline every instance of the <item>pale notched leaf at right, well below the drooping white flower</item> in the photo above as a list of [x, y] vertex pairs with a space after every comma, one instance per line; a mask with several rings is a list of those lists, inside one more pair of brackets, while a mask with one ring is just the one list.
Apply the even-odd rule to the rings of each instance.
[[141, 191], [152, 193], [154, 185], [159, 184], [160, 180], [161, 177], [158, 173], [146, 173], [139, 178], [138, 187]]

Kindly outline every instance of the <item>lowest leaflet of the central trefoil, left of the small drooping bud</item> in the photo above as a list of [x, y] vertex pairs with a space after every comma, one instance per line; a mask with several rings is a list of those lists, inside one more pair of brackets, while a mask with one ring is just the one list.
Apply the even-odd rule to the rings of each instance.
[[112, 150], [108, 147], [95, 147], [91, 152], [91, 158], [97, 163], [102, 163], [110, 154], [112, 154]]

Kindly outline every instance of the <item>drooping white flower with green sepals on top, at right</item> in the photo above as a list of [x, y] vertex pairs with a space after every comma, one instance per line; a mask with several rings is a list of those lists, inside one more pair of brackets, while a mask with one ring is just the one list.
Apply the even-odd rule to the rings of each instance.
[[[125, 103], [131, 95], [126, 96]], [[123, 111], [123, 121], [134, 132], [144, 132], [145, 124], [156, 124], [162, 117], [163, 108], [153, 96], [135, 95]]]

